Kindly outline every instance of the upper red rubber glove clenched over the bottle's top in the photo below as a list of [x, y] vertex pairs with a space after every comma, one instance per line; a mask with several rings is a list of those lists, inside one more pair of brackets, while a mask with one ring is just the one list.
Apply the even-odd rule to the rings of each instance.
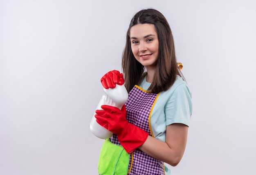
[[124, 84], [124, 76], [123, 73], [120, 73], [118, 70], [112, 70], [106, 73], [101, 78], [101, 84], [105, 89], [115, 88], [116, 84], [123, 85]]

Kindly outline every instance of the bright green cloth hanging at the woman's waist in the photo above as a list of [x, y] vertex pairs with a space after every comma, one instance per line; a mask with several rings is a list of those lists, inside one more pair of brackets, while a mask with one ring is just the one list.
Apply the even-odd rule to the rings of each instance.
[[130, 155], [122, 146], [104, 141], [99, 155], [98, 173], [100, 175], [127, 175]]

